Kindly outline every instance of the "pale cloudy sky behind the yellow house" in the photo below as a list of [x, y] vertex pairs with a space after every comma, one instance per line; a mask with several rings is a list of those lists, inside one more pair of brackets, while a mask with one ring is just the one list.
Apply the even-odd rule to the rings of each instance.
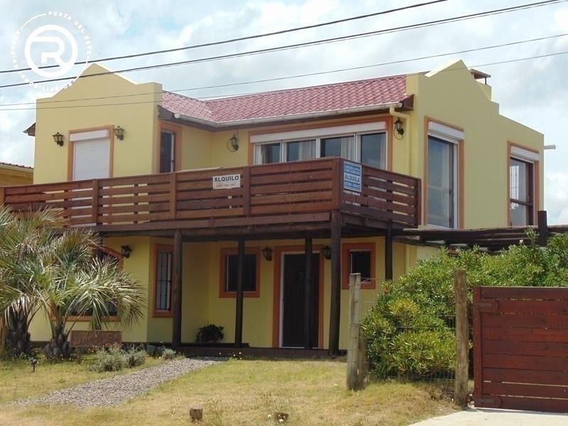
[[[26, 65], [19, 52], [16, 57], [12, 55], [11, 46], [16, 37], [18, 48], [23, 48], [25, 31], [29, 33], [35, 24], [43, 22], [34, 18], [43, 13], [70, 16], [61, 26], [79, 40], [77, 60], [84, 61], [89, 53], [90, 60], [97, 60], [182, 48], [429, 1], [0, 0], [0, 9], [8, 11], [0, 26], [0, 71], [13, 70], [14, 58], [18, 65]], [[195, 60], [411, 26], [537, 1], [446, 0], [283, 35], [101, 63], [116, 71]], [[23, 31], [19, 30], [22, 26]], [[21, 31], [20, 35], [17, 31]], [[532, 39], [540, 40], [526, 41]], [[568, 224], [568, 120], [564, 116], [568, 111], [567, 0], [423, 28], [124, 75], [135, 82], [160, 82], [166, 90], [209, 99], [423, 72], [456, 59], [491, 75], [488, 84], [502, 115], [544, 133], [545, 145], [556, 146], [555, 150], [545, 151], [545, 209], [549, 224]], [[77, 75], [80, 70], [76, 66], [68, 75]], [[0, 73], [0, 86], [21, 82], [17, 73]], [[44, 90], [28, 85], [0, 88], [0, 161], [33, 165], [33, 138], [23, 130], [35, 121], [35, 99], [49, 96], [45, 88], [55, 84], [45, 83]]]

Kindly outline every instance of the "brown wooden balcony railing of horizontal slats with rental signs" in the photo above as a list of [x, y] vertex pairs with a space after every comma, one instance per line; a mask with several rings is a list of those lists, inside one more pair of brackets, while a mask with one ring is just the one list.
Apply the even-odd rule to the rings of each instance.
[[[52, 207], [70, 226], [97, 226], [103, 231], [117, 226], [175, 228], [173, 222], [196, 228], [317, 222], [329, 220], [333, 209], [417, 226], [419, 179], [361, 165], [360, 192], [344, 190], [344, 163], [356, 165], [342, 158], [322, 158], [0, 187], [0, 204], [16, 210]], [[215, 178], [226, 189], [214, 189]]]

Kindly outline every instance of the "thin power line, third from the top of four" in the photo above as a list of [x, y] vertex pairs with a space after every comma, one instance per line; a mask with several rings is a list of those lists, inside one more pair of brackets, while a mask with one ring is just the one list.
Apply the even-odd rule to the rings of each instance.
[[[532, 42], [535, 42], [535, 41], [550, 40], [552, 38], [565, 37], [567, 35], [568, 35], [568, 33], [562, 33], [562, 34], [556, 34], [556, 35], [547, 35], [547, 36], [543, 36], [543, 37], [530, 38], [528, 40], [516, 40], [516, 41], [511, 41], [511, 42], [508, 42], [508, 43], [501, 43], [501, 44], [498, 44], [498, 45], [483, 46], [481, 48], [470, 48], [470, 49], [457, 50], [457, 51], [454, 51], [454, 52], [437, 53], [437, 54], [434, 54], [434, 55], [425, 55], [425, 56], [419, 56], [417, 58], [393, 60], [393, 61], [390, 61], [390, 62], [381, 62], [381, 63], [378, 63], [378, 64], [372, 64], [372, 65], [360, 65], [358, 67], [346, 67], [346, 68], [339, 68], [339, 69], [336, 69], [336, 70], [307, 72], [305, 74], [299, 74], [299, 75], [290, 75], [290, 76], [284, 76], [284, 77], [273, 77], [273, 78], [266, 78], [266, 79], [261, 79], [261, 80], [249, 80], [249, 81], [246, 81], [246, 82], [214, 84], [214, 85], [210, 85], [210, 86], [190, 87], [190, 88], [186, 88], [186, 89], [173, 89], [173, 90], [170, 90], [169, 92], [175, 92], [175, 93], [192, 92], [192, 91], [195, 91], [195, 90], [217, 89], [217, 88], [222, 88], [222, 87], [234, 87], [234, 86], [241, 86], [241, 85], [244, 85], [244, 84], [257, 84], [257, 83], [273, 82], [273, 81], [279, 81], [279, 80], [290, 80], [290, 79], [293, 79], [293, 78], [312, 77], [312, 76], [315, 76], [315, 75], [333, 74], [333, 73], [336, 73], [336, 72], [364, 70], [366, 68], [372, 68], [372, 67], [381, 67], [381, 66], [385, 66], [385, 65], [395, 65], [395, 64], [405, 63], [405, 62], [416, 62], [418, 60], [441, 58], [442, 56], [459, 55], [459, 54], [462, 54], [462, 53], [478, 52], [480, 50], [489, 50], [489, 49], [508, 47], [508, 46], [512, 46], [512, 45], [532, 43]], [[553, 55], [553, 54], [551, 54], [551, 55]], [[493, 65], [493, 64], [490, 64], [490, 65]], [[474, 65], [474, 66], [483, 66], [483, 65]], [[78, 99], [67, 99], [67, 100], [54, 99], [54, 100], [51, 100], [51, 101], [43, 102], [43, 105], [48, 104], [48, 103], [58, 103], [58, 102], [81, 102], [81, 101], [90, 101], [90, 100], [98, 100], [98, 99], [138, 97], [138, 96], [144, 96], [144, 95], [148, 95], [148, 94], [157, 94], [157, 93], [160, 93], [160, 92], [146, 92], [146, 93], [137, 93], [137, 94], [116, 94], [116, 95], [113, 95], [113, 96], [89, 97], [89, 98], [78, 98]], [[254, 92], [254, 93], [258, 93], [258, 92]], [[246, 93], [246, 94], [251, 94], [251, 93]], [[211, 98], [215, 98], [215, 97], [217, 97], [217, 96], [200, 97], [199, 99], [211, 99]], [[16, 106], [20, 106], [20, 105], [35, 105], [35, 102], [21, 102], [21, 103], [18, 103], [18, 104], [0, 104], [0, 107], [9, 107], [9, 106], [16, 107]]]

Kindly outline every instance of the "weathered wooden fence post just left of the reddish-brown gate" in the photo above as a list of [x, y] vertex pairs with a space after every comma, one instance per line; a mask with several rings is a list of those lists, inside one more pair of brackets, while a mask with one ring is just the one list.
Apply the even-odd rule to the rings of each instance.
[[454, 402], [467, 407], [467, 382], [469, 379], [469, 323], [467, 319], [466, 272], [454, 272], [454, 294], [456, 300], [456, 378]]

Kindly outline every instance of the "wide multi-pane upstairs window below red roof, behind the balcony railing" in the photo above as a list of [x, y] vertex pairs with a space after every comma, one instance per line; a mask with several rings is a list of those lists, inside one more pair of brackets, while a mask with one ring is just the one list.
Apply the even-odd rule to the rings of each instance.
[[310, 158], [342, 157], [386, 168], [386, 124], [358, 124], [325, 129], [269, 133], [251, 137], [255, 163], [268, 164]]

